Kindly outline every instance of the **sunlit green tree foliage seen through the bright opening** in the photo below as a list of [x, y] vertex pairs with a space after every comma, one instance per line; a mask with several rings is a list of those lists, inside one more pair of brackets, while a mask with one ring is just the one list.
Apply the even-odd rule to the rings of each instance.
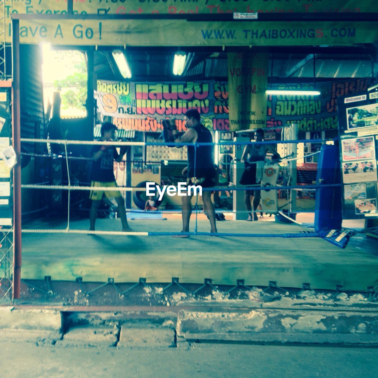
[[72, 107], [85, 110], [83, 105], [87, 99], [87, 66], [84, 59], [75, 62], [71, 75], [62, 80], [55, 80], [54, 88], [58, 91], [62, 90], [62, 88], [67, 88], [61, 94], [62, 109]]

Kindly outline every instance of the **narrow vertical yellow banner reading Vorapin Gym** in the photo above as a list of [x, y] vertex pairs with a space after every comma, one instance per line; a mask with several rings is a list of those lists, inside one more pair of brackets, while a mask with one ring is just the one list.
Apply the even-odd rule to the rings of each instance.
[[231, 131], [265, 127], [268, 59], [267, 52], [227, 54]]

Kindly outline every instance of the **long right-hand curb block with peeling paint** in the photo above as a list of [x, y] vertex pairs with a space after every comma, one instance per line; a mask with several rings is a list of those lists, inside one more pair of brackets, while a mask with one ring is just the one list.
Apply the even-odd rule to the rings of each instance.
[[247, 313], [180, 311], [176, 329], [177, 336], [187, 340], [378, 344], [377, 315], [372, 312], [270, 309]]

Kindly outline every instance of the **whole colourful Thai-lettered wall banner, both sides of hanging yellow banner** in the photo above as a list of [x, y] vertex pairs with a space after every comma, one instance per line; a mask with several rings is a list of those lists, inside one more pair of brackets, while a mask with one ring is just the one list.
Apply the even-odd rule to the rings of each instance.
[[[268, 96], [266, 127], [280, 132], [297, 123], [301, 132], [336, 130], [336, 98], [366, 91], [370, 78], [317, 82], [320, 96]], [[275, 84], [273, 89], [313, 90], [313, 83]], [[184, 113], [200, 112], [201, 122], [211, 130], [230, 131], [228, 82], [135, 83], [97, 81], [95, 98], [99, 111], [112, 116], [119, 129], [161, 132], [161, 121], [177, 119], [185, 131]]]

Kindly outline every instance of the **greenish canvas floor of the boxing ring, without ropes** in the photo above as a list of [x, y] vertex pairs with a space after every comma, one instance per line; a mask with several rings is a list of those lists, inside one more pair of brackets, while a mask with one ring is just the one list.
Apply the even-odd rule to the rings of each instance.
[[[200, 217], [201, 218], [201, 217]], [[272, 220], [272, 218], [268, 218]], [[89, 220], [71, 222], [72, 229], [88, 229]], [[131, 220], [135, 231], [180, 231], [181, 215], [169, 220]], [[65, 228], [64, 222], [34, 221], [24, 228]], [[191, 229], [194, 228], [192, 222]], [[119, 219], [98, 219], [98, 230], [121, 230]], [[209, 231], [208, 220], [198, 221], [198, 231]], [[219, 232], [281, 234], [313, 231], [302, 226], [278, 222], [218, 222]], [[378, 285], [378, 257], [366, 253], [362, 239], [338, 248], [320, 238], [237, 238], [191, 236], [88, 236], [75, 234], [27, 234], [22, 237], [22, 278], [116, 282], [203, 282], [302, 287], [316, 289], [366, 290]], [[376, 243], [376, 242], [375, 242]], [[358, 247], [358, 248], [356, 248]]]

